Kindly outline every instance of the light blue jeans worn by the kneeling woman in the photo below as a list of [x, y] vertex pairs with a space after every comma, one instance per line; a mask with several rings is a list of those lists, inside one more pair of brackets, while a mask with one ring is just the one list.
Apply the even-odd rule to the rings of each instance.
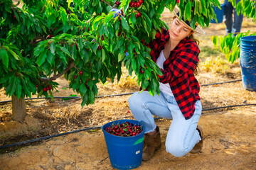
[[196, 101], [196, 110], [192, 118], [186, 120], [174, 98], [160, 93], [151, 96], [148, 91], [136, 92], [128, 100], [129, 108], [136, 120], [145, 125], [145, 133], [153, 132], [156, 128], [153, 115], [161, 118], [172, 119], [166, 137], [166, 152], [175, 157], [182, 157], [193, 149], [201, 140], [196, 130], [201, 116], [201, 101]]

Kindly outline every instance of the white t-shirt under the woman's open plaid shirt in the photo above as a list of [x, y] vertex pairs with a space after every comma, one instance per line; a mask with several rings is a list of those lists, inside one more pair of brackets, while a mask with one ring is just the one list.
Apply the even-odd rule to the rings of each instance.
[[[164, 62], [165, 62], [165, 57], [164, 57], [164, 52], [163, 50], [160, 52], [160, 56], [158, 57], [158, 59], [156, 60], [156, 64], [158, 65], [159, 68], [164, 69]], [[170, 96], [174, 96], [174, 94], [171, 91], [171, 87], [169, 85], [169, 83], [167, 84], [163, 84], [161, 82], [159, 82], [159, 89], [161, 92], [163, 92], [164, 94], [168, 94]]]

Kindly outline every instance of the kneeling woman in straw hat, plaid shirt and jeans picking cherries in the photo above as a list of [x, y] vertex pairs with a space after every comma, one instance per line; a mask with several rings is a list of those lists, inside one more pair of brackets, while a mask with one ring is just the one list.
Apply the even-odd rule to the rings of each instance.
[[202, 107], [194, 76], [199, 49], [192, 34], [204, 32], [200, 26], [193, 30], [188, 21], [179, 20], [178, 8], [174, 8], [174, 14], [170, 29], [161, 28], [147, 45], [151, 48], [151, 59], [163, 73], [159, 77], [159, 96], [142, 91], [132, 94], [128, 100], [134, 118], [142, 120], [146, 128], [144, 161], [151, 159], [161, 147], [161, 135], [153, 115], [172, 119], [165, 143], [167, 152], [182, 157], [188, 152], [201, 152], [203, 147], [203, 128], [197, 125]]

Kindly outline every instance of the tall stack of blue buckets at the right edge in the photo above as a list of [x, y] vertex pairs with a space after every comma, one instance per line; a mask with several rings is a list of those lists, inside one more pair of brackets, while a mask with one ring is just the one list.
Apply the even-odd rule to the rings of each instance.
[[240, 40], [242, 86], [248, 91], [256, 91], [256, 36], [245, 36]]

